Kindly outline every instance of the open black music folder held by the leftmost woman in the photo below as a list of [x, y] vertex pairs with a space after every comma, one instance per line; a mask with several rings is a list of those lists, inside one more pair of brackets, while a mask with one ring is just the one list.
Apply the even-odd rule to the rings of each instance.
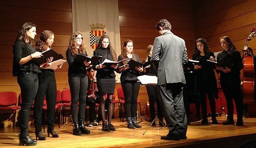
[[42, 63], [45, 63], [47, 61], [46, 59], [50, 58], [50, 57], [53, 57], [53, 61], [57, 61], [59, 59], [64, 58], [63, 55], [61, 55], [59, 53], [56, 53], [53, 49], [43, 51], [41, 54], [43, 55], [43, 56], [41, 56], [41, 58], [34, 58], [33, 59], [33, 61], [38, 65], [40, 65]]

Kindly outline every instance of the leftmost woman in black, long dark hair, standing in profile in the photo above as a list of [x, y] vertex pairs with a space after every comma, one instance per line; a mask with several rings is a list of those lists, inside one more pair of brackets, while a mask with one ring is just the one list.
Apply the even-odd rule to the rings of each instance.
[[31, 46], [31, 39], [35, 39], [36, 25], [25, 23], [21, 26], [15, 44], [13, 45], [13, 76], [17, 77], [21, 90], [20, 109], [20, 145], [36, 145], [28, 132], [28, 121], [31, 106], [38, 89], [38, 73], [41, 72], [39, 65], [33, 63], [33, 58], [40, 58], [40, 52], [36, 52]]

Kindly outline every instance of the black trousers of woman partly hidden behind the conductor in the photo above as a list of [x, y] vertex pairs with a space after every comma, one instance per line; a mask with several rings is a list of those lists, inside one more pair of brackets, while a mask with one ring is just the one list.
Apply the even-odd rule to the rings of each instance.
[[162, 108], [160, 105], [159, 87], [154, 85], [147, 85], [147, 95], [149, 96], [149, 110], [151, 120], [155, 119], [155, 103], [157, 104], [157, 116], [163, 119]]

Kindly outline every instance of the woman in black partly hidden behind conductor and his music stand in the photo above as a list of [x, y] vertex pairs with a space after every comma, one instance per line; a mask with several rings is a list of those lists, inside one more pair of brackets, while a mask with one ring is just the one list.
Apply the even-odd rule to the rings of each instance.
[[[152, 58], [153, 45], [148, 45], [146, 48], [146, 59], [142, 61], [145, 63], [147, 61], [151, 61]], [[157, 76], [157, 70], [153, 65], [150, 68], [145, 69], [145, 74], [149, 76]], [[163, 113], [160, 105], [160, 92], [159, 87], [154, 85], [146, 85], [147, 95], [149, 97], [149, 111], [150, 111], [150, 120], [152, 122], [155, 119], [155, 103], [157, 104], [157, 117], [160, 121], [163, 122]], [[163, 122], [164, 123], [164, 122]], [[161, 122], [159, 123], [161, 124]], [[152, 125], [156, 125], [155, 122]]]

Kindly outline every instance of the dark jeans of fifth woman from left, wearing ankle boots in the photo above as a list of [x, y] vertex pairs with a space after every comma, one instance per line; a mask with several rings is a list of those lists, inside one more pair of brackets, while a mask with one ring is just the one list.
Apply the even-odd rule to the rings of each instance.
[[124, 92], [124, 111], [126, 118], [137, 116], [137, 99], [140, 90], [140, 82], [137, 80], [126, 80], [121, 82], [122, 89]]

